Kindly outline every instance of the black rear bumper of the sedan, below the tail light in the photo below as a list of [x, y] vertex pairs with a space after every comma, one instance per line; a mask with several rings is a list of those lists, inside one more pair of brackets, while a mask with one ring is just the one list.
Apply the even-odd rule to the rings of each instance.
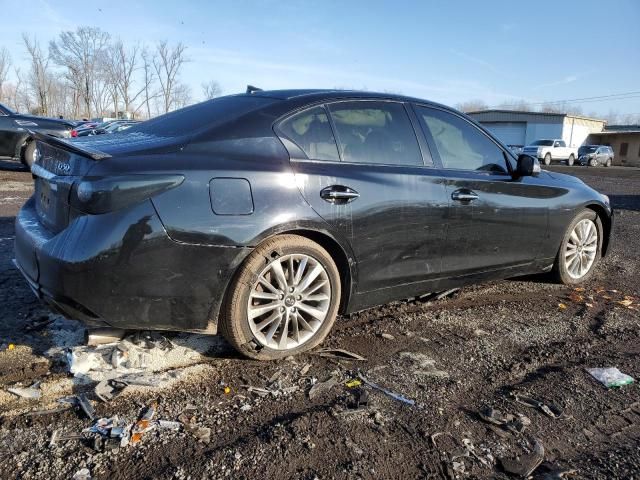
[[76, 218], [58, 234], [35, 202], [16, 216], [15, 264], [55, 310], [89, 325], [215, 333], [233, 272], [249, 248], [171, 240], [150, 202]]

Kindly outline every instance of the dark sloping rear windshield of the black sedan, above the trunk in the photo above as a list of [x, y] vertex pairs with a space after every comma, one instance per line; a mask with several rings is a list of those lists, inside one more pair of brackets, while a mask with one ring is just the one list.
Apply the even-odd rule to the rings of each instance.
[[278, 101], [257, 95], [229, 95], [197, 103], [175, 112], [136, 124], [127, 132], [144, 132], [159, 136], [182, 136], [211, 128]]

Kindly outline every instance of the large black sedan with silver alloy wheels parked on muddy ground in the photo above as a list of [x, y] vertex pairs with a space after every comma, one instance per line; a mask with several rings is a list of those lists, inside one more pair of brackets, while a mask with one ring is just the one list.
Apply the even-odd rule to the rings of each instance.
[[425, 292], [582, 283], [613, 220], [580, 180], [393, 94], [219, 97], [38, 151], [15, 258], [40, 297], [94, 326], [221, 332], [256, 359]]

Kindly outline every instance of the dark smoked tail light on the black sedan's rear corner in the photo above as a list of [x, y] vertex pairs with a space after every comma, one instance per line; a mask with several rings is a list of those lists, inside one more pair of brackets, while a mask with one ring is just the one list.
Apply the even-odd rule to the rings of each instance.
[[113, 212], [175, 188], [183, 181], [182, 175], [168, 174], [87, 177], [74, 183], [70, 203], [88, 214]]

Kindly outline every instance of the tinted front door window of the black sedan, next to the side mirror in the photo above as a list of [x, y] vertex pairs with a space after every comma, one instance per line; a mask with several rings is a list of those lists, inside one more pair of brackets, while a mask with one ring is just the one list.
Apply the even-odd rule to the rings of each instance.
[[444, 168], [509, 173], [502, 149], [477, 127], [444, 110], [427, 107], [417, 110]]

